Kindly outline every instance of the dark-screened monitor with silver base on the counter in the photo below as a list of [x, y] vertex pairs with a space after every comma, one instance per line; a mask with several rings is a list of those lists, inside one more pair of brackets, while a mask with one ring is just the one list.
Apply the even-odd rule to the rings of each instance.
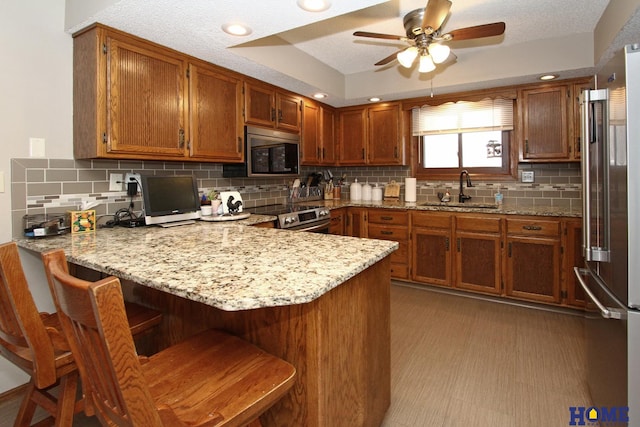
[[181, 225], [200, 218], [200, 198], [194, 176], [142, 175], [141, 178], [147, 225]]

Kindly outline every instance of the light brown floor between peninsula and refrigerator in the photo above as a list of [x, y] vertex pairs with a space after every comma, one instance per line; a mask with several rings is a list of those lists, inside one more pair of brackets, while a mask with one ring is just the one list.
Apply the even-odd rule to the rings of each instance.
[[[394, 283], [391, 363], [384, 427], [566, 426], [590, 406], [580, 316]], [[18, 405], [0, 402], [0, 427]]]

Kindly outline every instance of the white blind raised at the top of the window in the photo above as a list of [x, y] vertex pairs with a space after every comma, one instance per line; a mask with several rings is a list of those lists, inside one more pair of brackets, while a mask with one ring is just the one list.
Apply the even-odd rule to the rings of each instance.
[[512, 99], [448, 102], [412, 110], [414, 136], [513, 129]]

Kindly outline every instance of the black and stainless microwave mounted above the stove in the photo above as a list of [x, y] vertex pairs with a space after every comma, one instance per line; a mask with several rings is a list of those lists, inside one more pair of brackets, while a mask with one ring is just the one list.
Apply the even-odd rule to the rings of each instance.
[[223, 177], [277, 177], [300, 174], [299, 135], [245, 126], [244, 141], [245, 162], [223, 164]]

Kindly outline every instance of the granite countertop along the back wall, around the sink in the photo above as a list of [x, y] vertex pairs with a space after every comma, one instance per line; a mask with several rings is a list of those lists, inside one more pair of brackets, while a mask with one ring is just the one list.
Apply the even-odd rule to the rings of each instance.
[[[504, 204], [497, 208], [473, 207], [473, 203], [437, 203], [428, 202], [426, 200], [418, 202], [398, 201], [352, 201], [352, 200], [316, 200], [313, 203], [325, 206], [329, 209], [337, 209], [342, 207], [366, 207], [366, 208], [386, 208], [386, 209], [411, 209], [420, 211], [446, 211], [446, 212], [474, 212], [497, 215], [532, 215], [532, 216], [556, 216], [556, 217], [582, 217], [582, 209], [571, 209], [568, 207], [558, 206], [518, 206]], [[306, 202], [305, 204], [308, 204]], [[483, 206], [489, 206], [482, 204]]]

